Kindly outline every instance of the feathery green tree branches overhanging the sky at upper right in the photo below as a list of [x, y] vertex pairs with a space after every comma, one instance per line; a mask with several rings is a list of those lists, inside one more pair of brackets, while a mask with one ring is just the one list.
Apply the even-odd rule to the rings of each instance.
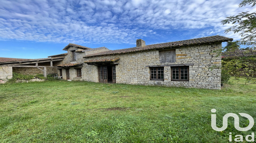
[[[239, 7], [245, 5], [252, 5], [252, 7], [256, 4], [256, 0], [243, 0]], [[225, 25], [227, 23], [236, 24], [225, 30], [225, 33], [230, 31], [234, 33], [239, 33], [242, 36], [240, 43], [242, 45], [252, 46], [255, 49], [256, 47], [256, 12], [250, 13], [241, 12], [236, 16], [226, 17], [227, 19], [222, 20], [222, 24]]]

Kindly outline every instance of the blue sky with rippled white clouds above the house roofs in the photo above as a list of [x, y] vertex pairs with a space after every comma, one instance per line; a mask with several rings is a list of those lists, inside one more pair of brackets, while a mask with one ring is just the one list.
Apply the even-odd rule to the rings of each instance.
[[222, 35], [241, 0], [1, 0], [0, 57], [47, 58], [69, 43], [111, 50]]

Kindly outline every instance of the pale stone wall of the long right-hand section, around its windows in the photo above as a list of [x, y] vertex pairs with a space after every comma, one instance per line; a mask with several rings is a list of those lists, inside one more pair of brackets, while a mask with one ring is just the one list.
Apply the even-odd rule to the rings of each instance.
[[[176, 48], [174, 63], [160, 63], [158, 50], [84, 58], [84, 61], [120, 58], [116, 65], [116, 83], [221, 89], [221, 56], [215, 52], [220, 48], [221, 43]], [[150, 68], [146, 66], [167, 64], [194, 64], [189, 66], [189, 81], [171, 81], [170, 66], [164, 67], [164, 81], [150, 80]], [[84, 64], [83, 71], [84, 80], [98, 82], [97, 66]]]

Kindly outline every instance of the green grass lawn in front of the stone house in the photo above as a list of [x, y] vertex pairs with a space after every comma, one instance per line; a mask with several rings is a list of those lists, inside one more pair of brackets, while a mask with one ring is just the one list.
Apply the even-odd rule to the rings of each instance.
[[[256, 85], [231, 78], [222, 90], [94, 82], [0, 84], [0, 142], [228, 142], [245, 136], [226, 113], [256, 119]], [[240, 116], [240, 126], [247, 126]]]

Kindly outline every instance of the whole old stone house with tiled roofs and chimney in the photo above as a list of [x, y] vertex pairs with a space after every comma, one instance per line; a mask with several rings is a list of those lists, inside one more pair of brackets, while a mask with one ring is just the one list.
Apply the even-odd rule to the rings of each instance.
[[146, 45], [138, 39], [136, 47], [119, 50], [70, 43], [67, 53], [48, 58], [63, 58], [57, 73], [65, 80], [221, 89], [217, 51], [232, 40], [217, 35]]

